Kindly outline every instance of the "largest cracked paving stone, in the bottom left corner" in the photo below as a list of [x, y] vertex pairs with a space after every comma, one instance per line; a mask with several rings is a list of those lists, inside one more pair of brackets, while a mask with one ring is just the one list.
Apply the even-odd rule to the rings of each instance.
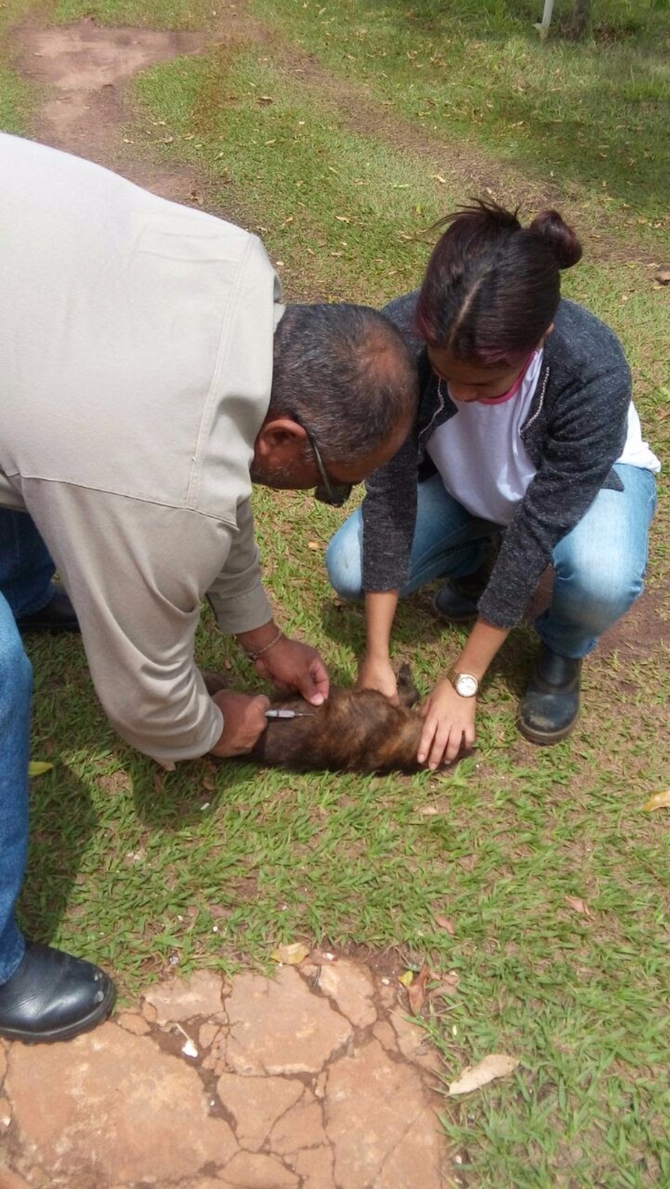
[[114, 1024], [67, 1045], [14, 1045], [6, 1089], [20, 1140], [54, 1185], [84, 1175], [92, 1187], [174, 1182], [238, 1150], [227, 1122], [209, 1116], [198, 1072]]

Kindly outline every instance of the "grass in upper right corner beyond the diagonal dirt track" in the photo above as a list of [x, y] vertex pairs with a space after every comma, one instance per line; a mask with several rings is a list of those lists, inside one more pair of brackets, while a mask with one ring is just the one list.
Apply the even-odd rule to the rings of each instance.
[[301, 50], [447, 145], [474, 143], [521, 178], [551, 172], [582, 201], [615, 199], [664, 219], [668, 4], [599, 5], [602, 27], [578, 44], [556, 34], [541, 44], [540, 7], [251, 0]]

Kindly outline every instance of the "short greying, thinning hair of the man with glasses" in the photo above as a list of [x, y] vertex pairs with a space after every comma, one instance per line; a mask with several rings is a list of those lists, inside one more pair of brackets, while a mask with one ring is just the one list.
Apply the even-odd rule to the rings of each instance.
[[274, 414], [296, 414], [332, 461], [383, 445], [418, 404], [400, 331], [365, 306], [287, 306], [275, 331]]

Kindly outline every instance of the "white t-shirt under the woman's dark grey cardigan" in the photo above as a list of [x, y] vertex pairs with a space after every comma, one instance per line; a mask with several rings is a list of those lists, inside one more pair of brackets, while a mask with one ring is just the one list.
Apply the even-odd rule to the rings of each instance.
[[[427, 443], [444, 486], [472, 516], [509, 524], [536, 466], [521, 439], [538, 385], [544, 351], [536, 351], [507, 400], [457, 402], [458, 413]], [[451, 394], [450, 394], [451, 395]], [[631, 403], [628, 435], [619, 463], [659, 471], [660, 463], [643, 441], [640, 419]]]

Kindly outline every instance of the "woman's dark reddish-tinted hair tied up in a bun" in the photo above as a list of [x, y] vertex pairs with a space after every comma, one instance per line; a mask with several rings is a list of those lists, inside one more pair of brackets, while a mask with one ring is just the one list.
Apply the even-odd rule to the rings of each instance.
[[561, 301], [561, 269], [582, 246], [557, 210], [528, 227], [495, 202], [477, 200], [437, 226], [419, 292], [415, 328], [458, 359], [514, 364], [539, 342]]

